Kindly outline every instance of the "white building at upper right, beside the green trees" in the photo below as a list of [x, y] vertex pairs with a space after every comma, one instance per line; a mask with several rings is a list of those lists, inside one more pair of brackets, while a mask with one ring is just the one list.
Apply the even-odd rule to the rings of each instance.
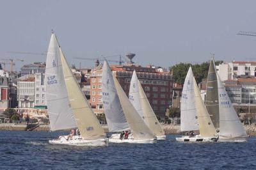
[[256, 77], [255, 61], [233, 61], [216, 66], [221, 81], [235, 80], [239, 76]]

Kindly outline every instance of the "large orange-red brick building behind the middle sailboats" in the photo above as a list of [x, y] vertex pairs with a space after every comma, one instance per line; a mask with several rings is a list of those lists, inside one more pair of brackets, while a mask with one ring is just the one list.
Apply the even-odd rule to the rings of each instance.
[[[157, 72], [152, 66], [113, 65], [111, 70], [120, 82], [125, 93], [129, 94], [133, 70], [136, 70], [148, 101], [157, 116], [164, 118], [166, 109], [172, 105], [173, 78], [169, 72]], [[90, 104], [96, 114], [104, 112], [101, 93], [102, 65], [97, 66], [91, 73]]]

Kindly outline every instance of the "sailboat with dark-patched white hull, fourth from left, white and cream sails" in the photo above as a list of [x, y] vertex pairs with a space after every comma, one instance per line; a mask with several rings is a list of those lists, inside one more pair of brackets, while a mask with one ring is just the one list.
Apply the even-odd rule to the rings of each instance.
[[182, 132], [199, 130], [198, 135], [177, 137], [180, 142], [216, 142], [218, 135], [212, 124], [209, 113], [201, 98], [192, 68], [189, 67], [184, 88], [180, 112], [180, 128]]

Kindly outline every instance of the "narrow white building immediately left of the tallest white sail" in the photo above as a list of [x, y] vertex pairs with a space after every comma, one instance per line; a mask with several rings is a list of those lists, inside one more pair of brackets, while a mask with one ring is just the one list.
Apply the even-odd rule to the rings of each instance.
[[35, 107], [46, 107], [45, 74], [35, 73]]

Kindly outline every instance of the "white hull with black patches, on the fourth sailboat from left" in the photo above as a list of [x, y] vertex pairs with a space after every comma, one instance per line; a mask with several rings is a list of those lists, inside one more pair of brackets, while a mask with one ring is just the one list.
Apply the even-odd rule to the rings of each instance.
[[200, 135], [195, 136], [182, 136], [182, 137], [176, 137], [176, 141], [178, 142], [191, 142], [191, 143], [212, 143], [216, 142], [218, 140], [217, 137], [201, 137]]

